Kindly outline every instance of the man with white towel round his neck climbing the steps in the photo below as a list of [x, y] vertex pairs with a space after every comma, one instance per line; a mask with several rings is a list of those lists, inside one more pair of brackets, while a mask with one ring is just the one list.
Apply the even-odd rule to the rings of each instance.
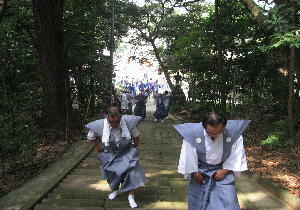
[[[87, 138], [99, 152], [98, 159], [104, 177], [113, 190], [109, 199], [113, 200], [119, 193], [128, 192], [131, 208], [137, 207], [135, 190], [146, 183], [138, 157], [140, 132], [136, 126], [141, 120], [139, 116], [122, 116], [120, 107], [111, 106], [105, 119], [93, 121], [85, 126], [89, 129]], [[96, 141], [97, 136], [102, 137], [104, 147]]]

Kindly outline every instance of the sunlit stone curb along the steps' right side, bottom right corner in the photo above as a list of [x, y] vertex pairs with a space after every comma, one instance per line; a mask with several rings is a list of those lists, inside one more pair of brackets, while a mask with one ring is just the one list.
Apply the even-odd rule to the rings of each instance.
[[273, 195], [275, 195], [277, 198], [279, 198], [282, 202], [288, 204], [293, 209], [300, 209], [300, 198], [296, 197], [293, 194], [290, 194], [286, 192], [285, 190], [281, 189], [280, 187], [274, 185], [271, 181], [268, 179], [265, 179], [264, 177], [252, 172], [247, 171], [245, 173], [250, 179], [256, 181], [260, 185], [262, 185], [266, 190], [271, 192]]

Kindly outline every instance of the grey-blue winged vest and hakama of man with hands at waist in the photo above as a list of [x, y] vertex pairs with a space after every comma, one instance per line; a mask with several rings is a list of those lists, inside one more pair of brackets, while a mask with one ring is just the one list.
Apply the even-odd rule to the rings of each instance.
[[202, 123], [185, 123], [175, 125], [174, 128], [196, 148], [198, 155], [198, 172], [203, 175], [203, 184], [196, 183], [193, 179], [188, 189], [188, 207], [190, 210], [239, 210], [239, 202], [235, 190], [234, 175], [228, 173], [223, 180], [215, 180], [214, 173], [222, 169], [223, 162], [230, 156], [231, 147], [242, 135], [249, 120], [229, 120], [223, 134], [223, 155], [221, 163], [208, 164], [206, 161], [206, 146], [204, 128]]

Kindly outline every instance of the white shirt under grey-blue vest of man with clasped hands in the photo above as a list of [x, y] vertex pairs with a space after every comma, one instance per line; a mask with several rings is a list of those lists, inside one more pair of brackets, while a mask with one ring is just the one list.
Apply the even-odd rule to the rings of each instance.
[[[206, 161], [216, 165], [221, 162], [223, 155], [223, 135], [213, 141], [205, 132]], [[241, 136], [231, 147], [230, 156], [223, 162], [223, 169], [241, 172], [248, 170], [246, 153]], [[179, 158], [178, 172], [188, 177], [193, 172], [198, 172], [198, 155], [196, 148], [183, 139]]]

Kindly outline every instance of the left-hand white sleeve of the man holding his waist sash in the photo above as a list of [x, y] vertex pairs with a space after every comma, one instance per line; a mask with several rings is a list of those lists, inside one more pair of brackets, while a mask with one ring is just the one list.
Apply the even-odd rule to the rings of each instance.
[[183, 139], [178, 173], [183, 174], [185, 178], [188, 178], [193, 172], [198, 172], [198, 155], [196, 148]]

